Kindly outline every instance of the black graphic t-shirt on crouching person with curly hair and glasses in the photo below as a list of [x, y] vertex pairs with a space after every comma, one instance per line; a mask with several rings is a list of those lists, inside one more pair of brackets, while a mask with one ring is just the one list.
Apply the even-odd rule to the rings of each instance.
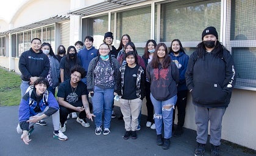
[[69, 104], [82, 100], [82, 95], [88, 95], [86, 84], [79, 81], [77, 87], [73, 88], [70, 84], [70, 78], [60, 84], [57, 97], [64, 98]]

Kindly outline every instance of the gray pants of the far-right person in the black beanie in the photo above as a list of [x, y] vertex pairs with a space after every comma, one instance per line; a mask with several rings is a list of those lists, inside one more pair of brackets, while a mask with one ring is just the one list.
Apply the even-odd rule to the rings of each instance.
[[226, 108], [200, 107], [194, 105], [195, 121], [197, 125], [197, 143], [206, 144], [208, 137], [208, 121], [210, 121], [210, 143], [219, 146], [221, 144], [221, 123]]

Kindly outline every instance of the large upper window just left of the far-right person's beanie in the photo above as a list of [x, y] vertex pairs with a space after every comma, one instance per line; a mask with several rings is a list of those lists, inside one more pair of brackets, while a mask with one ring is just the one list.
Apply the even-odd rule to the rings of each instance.
[[161, 5], [160, 42], [201, 41], [208, 26], [220, 32], [221, 1], [176, 1]]

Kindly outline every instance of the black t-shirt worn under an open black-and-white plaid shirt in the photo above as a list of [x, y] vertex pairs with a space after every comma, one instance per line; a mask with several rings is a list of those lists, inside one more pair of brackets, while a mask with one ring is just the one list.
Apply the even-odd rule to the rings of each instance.
[[123, 99], [133, 100], [137, 97], [137, 73], [140, 66], [130, 68], [126, 66], [124, 70], [124, 87], [123, 87]]

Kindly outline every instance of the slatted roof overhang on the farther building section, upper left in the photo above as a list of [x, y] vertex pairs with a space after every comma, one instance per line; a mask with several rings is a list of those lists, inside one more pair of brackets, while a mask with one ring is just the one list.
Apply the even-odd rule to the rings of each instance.
[[29, 30], [29, 29], [42, 27], [44, 25], [49, 25], [49, 24], [54, 24], [56, 22], [66, 21], [67, 19], [69, 19], [69, 15], [52, 16], [48, 19], [43, 19], [41, 21], [33, 22], [31, 24], [28, 24], [28, 25], [24, 25], [24, 26], [21, 26], [21, 27], [16, 27], [15, 29], [10, 29], [10, 30], [7, 30], [5, 32], [0, 32], [0, 36], [8, 35], [9, 33], [23, 32], [23, 31], [26, 31], [26, 30]]

